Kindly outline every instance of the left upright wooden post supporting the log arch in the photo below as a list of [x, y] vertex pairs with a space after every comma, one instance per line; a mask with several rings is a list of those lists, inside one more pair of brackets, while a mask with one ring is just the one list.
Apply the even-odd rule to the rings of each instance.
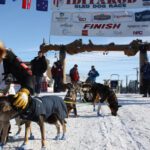
[[66, 83], [66, 51], [65, 46], [62, 46], [59, 52], [59, 60], [63, 67], [63, 83]]

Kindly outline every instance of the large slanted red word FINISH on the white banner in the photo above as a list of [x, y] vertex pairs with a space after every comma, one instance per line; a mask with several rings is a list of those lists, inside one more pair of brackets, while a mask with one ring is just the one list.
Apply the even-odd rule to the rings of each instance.
[[85, 24], [83, 29], [119, 29], [121, 24]]

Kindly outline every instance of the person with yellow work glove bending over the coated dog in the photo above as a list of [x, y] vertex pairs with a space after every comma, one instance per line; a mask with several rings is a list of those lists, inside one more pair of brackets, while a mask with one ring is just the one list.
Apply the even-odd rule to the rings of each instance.
[[[7, 93], [9, 87], [7, 78], [9, 75], [15, 78], [15, 83], [21, 85], [20, 90], [14, 96], [13, 106], [17, 109], [25, 109], [30, 94], [34, 93], [32, 71], [11, 50], [6, 49], [0, 42], [0, 92]], [[11, 81], [13, 83], [14, 81]]]

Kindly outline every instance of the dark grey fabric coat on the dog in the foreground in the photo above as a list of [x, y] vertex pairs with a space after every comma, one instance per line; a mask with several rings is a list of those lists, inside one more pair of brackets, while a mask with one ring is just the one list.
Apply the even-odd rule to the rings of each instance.
[[52, 114], [56, 114], [61, 120], [67, 117], [67, 108], [61, 97], [43, 96], [31, 98], [31, 102], [25, 113], [21, 114], [21, 118], [37, 122], [40, 115], [44, 115], [47, 120]]

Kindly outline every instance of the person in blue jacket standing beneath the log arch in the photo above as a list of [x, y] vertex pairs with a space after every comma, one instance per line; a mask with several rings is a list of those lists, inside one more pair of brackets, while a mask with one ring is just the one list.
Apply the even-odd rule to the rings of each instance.
[[91, 70], [88, 73], [88, 78], [87, 78], [86, 82], [95, 83], [96, 77], [98, 77], [98, 76], [99, 76], [98, 71], [95, 69], [94, 66], [91, 66]]

